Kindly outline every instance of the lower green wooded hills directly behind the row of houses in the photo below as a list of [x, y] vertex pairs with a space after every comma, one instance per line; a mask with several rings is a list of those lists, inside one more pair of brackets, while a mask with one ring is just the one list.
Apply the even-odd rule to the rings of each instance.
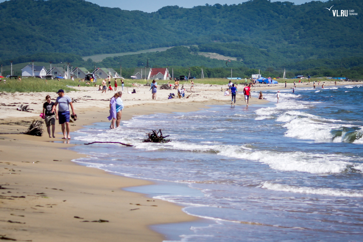
[[[223, 78], [241, 77], [250, 78], [252, 74], [258, 74], [257, 68], [249, 68], [241, 61], [228, 62], [200, 56], [196, 47], [187, 48], [177, 46], [163, 52], [143, 53], [119, 57], [108, 57], [102, 62], [93, 62], [91, 59], [84, 61], [81, 56], [66, 53], [38, 53], [29, 56], [20, 56], [13, 59], [13, 64], [24, 63], [24, 66], [31, 60], [37, 62], [70, 63], [73, 67], [85, 67], [90, 72], [96, 67], [113, 68], [120, 71], [122, 66], [122, 75], [130, 77], [134, 74], [135, 67], [146, 66], [147, 60], [151, 67], [169, 67], [170, 73], [174, 70], [174, 76], [188, 75], [189, 67], [191, 75], [196, 78], [201, 77], [201, 68], [204, 71], [204, 77]], [[224, 53], [226, 54], [226, 53]], [[1, 61], [3, 65], [9, 65], [9, 60]], [[4, 68], [5, 69], [5, 68]], [[7, 68], [3, 75], [10, 74]], [[266, 67], [260, 69], [264, 77], [282, 77], [286, 69], [286, 77], [291, 78], [296, 75], [310, 75], [311, 77], [347, 77], [350, 79], [363, 79], [363, 59], [360, 57], [346, 57], [337, 60], [317, 59], [305, 60], [290, 64], [281, 65], [278, 68]], [[21, 74], [15, 70], [15, 74]]]

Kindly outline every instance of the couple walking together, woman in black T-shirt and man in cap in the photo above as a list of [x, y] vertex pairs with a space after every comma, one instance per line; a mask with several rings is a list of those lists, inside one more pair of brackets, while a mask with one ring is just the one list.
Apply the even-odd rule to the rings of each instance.
[[[52, 102], [50, 99], [50, 95], [46, 95], [45, 103], [43, 103], [43, 110], [41, 113], [41, 117], [44, 118], [45, 125], [47, 128], [47, 132], [49, 138], [55, 138], [54, 131], [56, 130], [56, 120], [61, 125], [61, 130], [63, 133], [62, 139], [70, 139], [70, 128], [69, 128], [69, 120], [70, 117], [73, 120], [77, 119], [77, 115], [74, 113], [72, 99], [64, 94], [64, 90], [59, 89], [57, 91], [58, 97], [56, 102]], [[58, 106], [58, 112], [57, 112]], [[72, 110], [72, 115], [70, 115], [69, 106]]]

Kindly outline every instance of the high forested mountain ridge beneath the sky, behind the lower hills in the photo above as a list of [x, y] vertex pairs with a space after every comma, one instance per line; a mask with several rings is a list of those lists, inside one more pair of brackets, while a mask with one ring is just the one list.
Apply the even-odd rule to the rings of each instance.
[[[332, 5], [355, 9], [358, 16], [333, 17], [324, 9]], [[357, 0], [302, 5], [253, 0], [191, 9], [168, 6], [154, 13], [83, 0], [10, 0], [0, 4], [0, 59], [38, 52], [85, 56], [199, 45], [196, 51], [239, 57], [241, 66], [281, 68], [363, 54], [362, 10], [363, 1]], [[200, 64], [193, 60], [193, 65]], [[132, 61], [139, 65], [144, 60]], [[180, 65], [170, 60], [165, 64]]]

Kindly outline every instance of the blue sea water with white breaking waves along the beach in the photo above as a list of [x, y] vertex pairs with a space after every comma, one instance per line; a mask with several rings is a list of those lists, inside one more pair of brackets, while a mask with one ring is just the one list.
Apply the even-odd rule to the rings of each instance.
[[[182, 241], [362, 241], [363, 86], [264, 91], [270, 102], [135, 116], [78, 140], [80, 164], [156, 181], [139, 192], [204, 218], [188, 232], [155, 227]], [[252, 92], [257, 98], [258, 92]], [[240, 100], [238, 100], [240, 99]], [[170, 143], [143, 143], [162, 129]], [[173, 236], [174, 235], [174, 236]]]

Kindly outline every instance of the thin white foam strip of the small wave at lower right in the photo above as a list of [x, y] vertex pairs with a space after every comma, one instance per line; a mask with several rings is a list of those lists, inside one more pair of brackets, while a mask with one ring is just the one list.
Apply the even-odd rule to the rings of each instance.
[[282, 192], [295, 192], [295, 193], [304, 193], [304, 194], [319, 194], [319, 195], [343, 196], [343, 197], [363, 197], [363, 193], [357, 190], [298, 187], [298, 186], [274, 184], [268, 181], [265, 181], [261, 187], [269, 190], [282, 191]]

